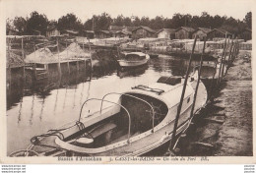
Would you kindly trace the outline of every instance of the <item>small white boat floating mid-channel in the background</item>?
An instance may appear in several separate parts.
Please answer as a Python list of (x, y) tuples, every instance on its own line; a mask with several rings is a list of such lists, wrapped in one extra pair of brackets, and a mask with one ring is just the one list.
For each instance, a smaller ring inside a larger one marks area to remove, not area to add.
[(146, 65), (150, 59), (148, 54), (142, 52), (126, 52), (123, 55), (121, 59), (117, 60), (121, 69)]

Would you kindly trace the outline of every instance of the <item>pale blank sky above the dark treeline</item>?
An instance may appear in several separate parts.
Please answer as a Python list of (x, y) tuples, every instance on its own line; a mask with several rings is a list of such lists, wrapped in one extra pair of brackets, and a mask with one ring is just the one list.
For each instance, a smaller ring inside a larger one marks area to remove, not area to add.
[(45, 14), (48, 20), (74, 13), (84, 23), (93, 15), (108, 13), (112, 18), (138, 16), (171, 18), (173, 14), (200, 16), (202, 12), (243, 20), (251, 11), (253, 0), (0, 0), (6, 19), (30, 17), (32, 11)]

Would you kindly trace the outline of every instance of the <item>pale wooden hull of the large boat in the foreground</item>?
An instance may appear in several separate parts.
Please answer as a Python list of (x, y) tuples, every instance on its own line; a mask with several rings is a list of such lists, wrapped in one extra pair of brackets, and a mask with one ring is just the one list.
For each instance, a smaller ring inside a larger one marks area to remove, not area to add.
[[(182, 134), (190, 125), (192, 119), (190, 114), (192, 108), (192, 100), (194, 97), (194, 93), (191, 92), (191, 89), (195, 88), (195, 86), (196, 81), (193, 84), (191, 84), (191, 87), (189, 87), (188, 90), (190, 91), (186, 91), (185, 93), (180, 117), (178, 120), (178, 128), (176, 131), (176, 135)], [(182, 85), (181, 87), (176, 88), (181, 89)], [(207, 100), (207, 91), (201, 82), (199, 85), (198, 92), (201, 94), (197, 96), (194, 113), (200, 110), (204, 106), (204, 104), (206, 104)], [(135, 90), (130, 91), (129, 93), (148, 93), (148, 91)], [(156, 95), (156, 93), (152, 92), (149, 95)], [(168, 97), (169, 95), (165, 98)], [(167, 101), (166, 104), (168, 103), (170, 102)], [(67, 143), (66, 140), (64, 141), (61, 140), (61, 138), (51, 136), (47, 138), (42, 138), (40, 142), (36, 142), (38, 145), (32, 144), (29, 147), (29, 149), (38, 152), (40, 156), (63, 156), (67, 155), (67, 153), (70, 153), (71, 156), (139, 156), (148, 153), (153, 149), (160, 147), (162, 144), (166, 144), (167, 142), (172, 140), (172, 132), (174, 128), (178, 104), (179, 103), (176, 101), (174, 101), (173, 104), (169, 104), (172, 106), (168, 107), (165, 118), (162, 121), (160, 121), (160, 124), (154, 126), (154, 129), (147, 130), (146, 132), (142, 132), (140, 134), (134, 134), (133, 136), (130, 137), (130, 139), (127, 139), (125, 136), (125, 139), (118, 141), (116, 143), (90, 148), (70, 144)], [(120, 109), (118, 110), (117, 108), (111, 108), (110, 110), (111, 111), (105, 111), (106, 115), (104, 114), (104, 117), (110, 117), (114, 112), (120, 111)], [(88, 127), (90, 126), (89, 124), (95, 124), (96, 121), (99, 121), (99, 119), (103, 120), (101, 114), (98, 115), (97, 119), (93, 117), (86, 117), (85, 119), (82, 119), (81, 122), (83, 122), (84, 125)], [(81, 127), (74, 122), (67, 124), (66, 126), (61, 128), (66, 129), (64, 131), (60, 131), (61, 133), (58, 134), (61, 134), (62, 136), (65, 137), (69, 137), (81, 131)], [(54, 148), (52, 149), (51, 146), (53, 146)]]

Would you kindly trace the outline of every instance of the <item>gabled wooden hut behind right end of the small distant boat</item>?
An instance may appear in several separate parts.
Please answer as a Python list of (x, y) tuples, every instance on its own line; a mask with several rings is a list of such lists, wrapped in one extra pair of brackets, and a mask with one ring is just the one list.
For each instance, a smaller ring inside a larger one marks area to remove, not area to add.
[(138, 27), (136, 29), (132, 30), (132, 38), (139, 39), (139, 38), (145, 38), (145, 37), (155, 37), (156, 30), (151, 29), (149, 27)]

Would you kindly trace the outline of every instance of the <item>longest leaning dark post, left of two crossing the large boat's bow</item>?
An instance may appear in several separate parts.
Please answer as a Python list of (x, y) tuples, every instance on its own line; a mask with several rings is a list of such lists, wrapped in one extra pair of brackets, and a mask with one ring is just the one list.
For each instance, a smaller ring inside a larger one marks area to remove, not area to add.
[(176, 114), (176, 118), (175, 118), (173, 132), (172, 132), (172, 138), (171, 138), (171, 141), (170, 141), (171, 149), (173, 149), (173, 147), (175, 145), (175, 141), (176, 141), (176, 131), (177, 131), (177, 126), (178, 126), (178, 119), (179, 119), (179, 115), (180, 115), (180, 111), (181, 111), (181, 107), (182, 107), (182, 103), (183, 103), (183, 99), (184, 99), (184, 95), (185, 95), (185, 91), (186, 91), (186, 87), (187, 87), (187, 80), (188, 80), (188, 76), (189, 76), (189, 70), (190, 70), (190, 66), (191, 66), (191, 62), (192, 62), (192, 57), (193, 57), (195, 46), (196, 46), (196, 41), (197, 41), (197, 35), (195, 36), (195, 39), (194, 39), (194, 44), (193, 44), (192, 52), (190, 54), (189, 64), (188, 64), (188, 67), (187, 67), (186, 77), (185, 77), (185, 81), (184, 81), (184, 84), (183, 84), (183, 89), (182, 89), (182, 92), (181, 92), (179, 105), (178, 105), (178, 108), (177, 108), (177, 114)]

